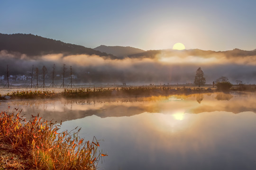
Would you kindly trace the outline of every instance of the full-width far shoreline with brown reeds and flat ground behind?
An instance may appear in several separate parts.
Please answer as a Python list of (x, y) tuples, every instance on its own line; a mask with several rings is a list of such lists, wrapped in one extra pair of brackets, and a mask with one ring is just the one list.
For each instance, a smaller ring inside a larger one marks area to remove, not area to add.
[[(256, 86), (244, 88), (233, 86), (229, 92), (255, 92)], [(116, 97), (149, 97), (168, 96), (175, 94), (214, 93), (223, 92), (210, 86), (115, 86), (115, 87), (88, 87), (88, 88), (0, 88), (0, 100), (13, 99), (58, 99), (58, 98), (116, 98)]]

